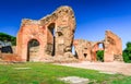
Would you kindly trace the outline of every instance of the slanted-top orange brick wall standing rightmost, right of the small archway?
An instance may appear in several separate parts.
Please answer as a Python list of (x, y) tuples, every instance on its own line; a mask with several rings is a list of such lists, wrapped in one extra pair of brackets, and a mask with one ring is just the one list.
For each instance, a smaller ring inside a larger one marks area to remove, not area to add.
[(110, 31), (105, 36), (105, 61), (122, 61), (122, 41)]

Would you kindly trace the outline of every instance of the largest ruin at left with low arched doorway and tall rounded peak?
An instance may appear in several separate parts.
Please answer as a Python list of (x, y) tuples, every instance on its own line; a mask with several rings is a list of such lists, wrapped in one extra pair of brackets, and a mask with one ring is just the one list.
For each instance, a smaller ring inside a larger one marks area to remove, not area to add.
[(70, 7), (60, 7), (38, 21), (22, 20), (16, 52), (24, 61), (43, 61), (48, 57), (72, 56), (75, 17)]

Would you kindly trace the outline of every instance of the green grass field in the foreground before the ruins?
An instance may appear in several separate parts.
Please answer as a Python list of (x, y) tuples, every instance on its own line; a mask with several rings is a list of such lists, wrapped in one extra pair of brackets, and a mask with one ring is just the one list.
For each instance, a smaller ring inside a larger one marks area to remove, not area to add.
[(104, 74), (94, 70), (39, 62), (0, 64), (0, 84), (66, 84), (58, 80), (63, 76), (86, 77), (90, 84), (131, 84), (131, 76)]

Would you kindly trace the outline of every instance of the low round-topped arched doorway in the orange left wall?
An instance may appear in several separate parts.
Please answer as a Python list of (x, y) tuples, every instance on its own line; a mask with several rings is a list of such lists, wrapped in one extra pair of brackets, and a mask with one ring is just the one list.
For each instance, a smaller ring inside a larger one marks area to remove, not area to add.
[(32, 39), (27, 44), (27, 59), (26, 61), (37, 60), (39, 53), (39, 41), (37, 39)]

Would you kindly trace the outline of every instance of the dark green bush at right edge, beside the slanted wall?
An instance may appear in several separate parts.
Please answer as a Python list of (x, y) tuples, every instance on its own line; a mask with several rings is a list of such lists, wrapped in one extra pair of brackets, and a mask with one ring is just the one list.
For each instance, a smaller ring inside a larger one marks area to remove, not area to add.
[(131, 41), (127, 43), (127, 48), (122, 52), (123, 61), (131, 62)]

